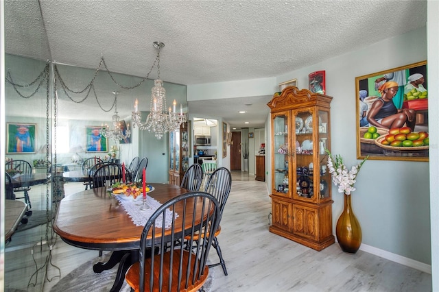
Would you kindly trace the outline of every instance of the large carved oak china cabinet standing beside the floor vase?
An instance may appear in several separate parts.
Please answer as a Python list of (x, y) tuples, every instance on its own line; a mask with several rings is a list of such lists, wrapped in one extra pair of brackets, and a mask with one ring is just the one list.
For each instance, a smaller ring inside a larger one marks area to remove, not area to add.
[(314, 250), (334, 243), (331, 175), (332, 97), (289, 86), (271, 109), (272, 225), (270, 232)]

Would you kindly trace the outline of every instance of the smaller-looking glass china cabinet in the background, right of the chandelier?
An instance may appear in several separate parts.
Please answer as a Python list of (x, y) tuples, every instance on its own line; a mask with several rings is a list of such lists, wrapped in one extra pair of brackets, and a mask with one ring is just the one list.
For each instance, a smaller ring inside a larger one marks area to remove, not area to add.
[(169, 184), (180, 186), (183, 175), (189, 169), (189, 127), (189, 123), (182, 123), (178, 130), (169, 132)]

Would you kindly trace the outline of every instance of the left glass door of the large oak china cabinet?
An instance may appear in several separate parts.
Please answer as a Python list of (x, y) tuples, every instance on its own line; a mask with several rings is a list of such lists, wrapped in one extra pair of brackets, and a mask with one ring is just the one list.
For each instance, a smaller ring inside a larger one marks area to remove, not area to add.
[(288, 145), (288, 112), (276, 114), (272, 123), (273, 135), (273, 188), (278, 195), (289, 197), (289, 163), (291, 151)]

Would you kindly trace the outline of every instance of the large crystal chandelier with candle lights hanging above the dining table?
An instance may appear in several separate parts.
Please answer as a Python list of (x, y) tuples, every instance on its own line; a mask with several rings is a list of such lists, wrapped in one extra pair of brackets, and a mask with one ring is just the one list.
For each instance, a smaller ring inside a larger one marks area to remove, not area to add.
[[(183, 114), (181, 104), (180, 112), (176, 112), (177, 102), (175, 99), (172, 108), (169, 107), (168, 110), (166, 108), (166, 90), (163, 88), (163, 81), (160, 79), (160, 49), (165, 47), (165, 44), (163, 42), (154, 42), (153, 45), (157, 49), (154, 64), (157, 62), (158, 77), (154, 80), (154, 87), (151, 89), (150, 114), (146, 117), (145, 123), (142, 123), (142, 113), (139, 112), (139, 102), (136, 99), (134, 111), (132, 112), (132, 127), (154, 132), (156, 138), (161, 139), (165, 133), (178, 130), (180, 125), (186, 122), (186, 115)], [(154, 64), (152, 67), (154, 67)]]

